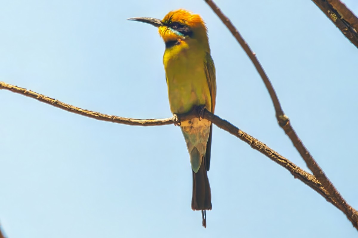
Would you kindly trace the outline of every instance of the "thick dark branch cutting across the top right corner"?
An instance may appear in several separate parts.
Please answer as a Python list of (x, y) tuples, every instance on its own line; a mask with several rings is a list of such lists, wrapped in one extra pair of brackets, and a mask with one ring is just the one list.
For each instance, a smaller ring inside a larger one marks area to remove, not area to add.
[(339, 0), (312, 0), (337, 26), (343, 35), (358, 48), (358, 18)]

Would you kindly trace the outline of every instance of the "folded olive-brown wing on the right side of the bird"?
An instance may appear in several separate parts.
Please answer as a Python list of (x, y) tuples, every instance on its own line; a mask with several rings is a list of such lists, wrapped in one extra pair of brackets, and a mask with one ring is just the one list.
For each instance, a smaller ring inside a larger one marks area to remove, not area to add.
[[(211, 58), (210, 53), (206, 53), (205, 61), (204, 61), (204, 69), (206, 74), (206, 79), (208, 81), (210, 96), (211, 96), (211, 112), (214, 113), (215, 103), (216, 103), (216, 73), (215, 73), (215, 65), (214, 61)], [(210, 157), (211, 157), (211, 140), (213, 135), (213, 124), (210, 126), (210, 134), (208, 143), (206, 144), (206, 152), (205, 152), (205, 165), (206, 170), (209, 171), (210, 168)]]

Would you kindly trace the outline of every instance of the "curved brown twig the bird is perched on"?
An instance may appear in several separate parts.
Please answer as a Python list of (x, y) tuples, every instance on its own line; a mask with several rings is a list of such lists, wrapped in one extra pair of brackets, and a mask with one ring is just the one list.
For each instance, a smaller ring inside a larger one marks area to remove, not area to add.
[[(9, 91), (12, 91), (14, 93), (19, 93), (24, 96), (29, 96), (31, 98), (34, 98), (38, 101), (41, 101), (43, 103), (47, 103), (52, 106), (56, 106), (58, 108), (61, 108), (63, 110), (69, 111), (71, 113), (81, 114), (84, 116), (88, 116), (90, 118), (96, 119), (96, 120), (102, 120), (107, 122), (114, 122), (114, 123), (120, 123), (120, 124), (127, 124), (127, 125), (142, 125), (142, 126), (150, 126), (150, 125), (168, 125), (168, 124), (179, 124), (180, 121), (189, 120), (192, 118), (196, 118), (199, 116), (200, 112), (196, 110), (195, 108), (189, 113), (186, 114), (180, 114), (173, 116), (172, 118), (166, 118), (166, 119), (150, 119), (150, 120), (142, 120), (142, 119), (133, 119), (133, 118), (123, 118), (120, 116), (112, 116), (112, 115), (106, 115), (98, 112), (93, 112), (90, 110), (83, 110), (81, 108), (78, 108), (73, 105), (69, 105), (66, 103), (58, 104), (53, 103), (53, 101), (57, 101), (55, 99), (49, 98), (48, 96), (35, 93), (34, 91), (26, 90), (24, 88), (20, 88), (18, 86), (14, 86), (11, 84), (7, 84), (4, 82), (0, 82), (0, 89), (6, 89)], [(57, 101), (59, 102), (59, 101)], [(61, 105), (61, 106), (59, 106)], [(233, 134), (237, 138), (241, 139), (243, 142), (246, 142), (248, 145), (250, 145), (253, 149), (261, 152), (266, 157), (271, 159), (272, 161), (276, 162), (277, 164), (281, 165), (285, 169), (289, 170), (289, 172), (297, 179), (301, 180), (303, 183), (307, 184), (310, 188), (318, 192), (322, 195), (328, 202), (332, 203), (337, 207), (337, 203), (332, 198), (332, 196), (326, 191), (326, 189), (321, 185), (319, 180), (315, 178), (314, 175), (306, 172), (305, 170), (301, 169), (294, 163), (292, 163), (290, 160), (286, 159), (279, 153), (277, 153), (275, 150), (268, 147), (266, 144), (260, 142), (259, 140), (253, 138), (251, 135), (243, 132), (242, 130), (238, 129), (231, 123), (227, 122), (226, 120), (223, 120), (219, 118), (218, 116), (212, 114), (211, 112), (204, 110), (203, 115), (204, 118), (210, 120), (215, 125), (217, 125), (219, 128), (226, 130), (227, 132)], [(108, 118), (114, 118), (115, 120), (110, 120)], [(136, 123), (133, 123), (136, 122)]]

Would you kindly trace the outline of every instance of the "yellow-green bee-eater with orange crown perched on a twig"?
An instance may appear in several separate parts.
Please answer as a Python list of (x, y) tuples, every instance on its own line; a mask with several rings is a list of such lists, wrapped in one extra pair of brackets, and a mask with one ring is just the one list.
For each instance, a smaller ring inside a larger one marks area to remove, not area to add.
[[(197, 106), (214, 113), (215, 66), (203, 19), (190, 11), (179, 9), (169, 12), (163, 20), (128, 20), (157, 27), (164, 40), (163, 63), (171, 112), (184, 114)], [(187, 143), (193, 172), (192, 209), (202, 211), (203, 226), (206, 227), (205, 210), (212, 209), (207, 171), (210, 168), (213, 126), (209, 120), (194, 118), (181, 122), (180, 128)]]

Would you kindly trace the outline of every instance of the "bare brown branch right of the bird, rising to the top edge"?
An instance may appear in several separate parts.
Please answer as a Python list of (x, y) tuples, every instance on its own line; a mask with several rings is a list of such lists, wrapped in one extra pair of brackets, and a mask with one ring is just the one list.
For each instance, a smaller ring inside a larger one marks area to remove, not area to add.
[(276, 111), (277, 122), (280, 127), (284, 129), (287, 136), (290, 138), (291, 142), (294, 144), (297, 151), (300, 153), (301, 157), (305, 160), (307, 167), (313, 172), (315, 177), (321, 182), (323, 187), (328, 191), (329, 194), (333, 197), (333, 200), (337, 201), (337, 208), (340, 209), (347, 218), (352, 222), (353, 226), (358, 230), (358, 212), (352, 208), (340, 195), (338, 190), (334, 187), (332, 182), (326, 177), (323, 170), (320, 168), (318, 163), (314, 160), (312, 155), (309, 153), (308, 149), (304, 146), (302, 141), (299, 139), (295, 130), (290, 124), (288, 116), (286, 116), (281, 108), (279, 99), (277, 98), (276, 92), (267, 77), (265, 71), (263, 70), (260, 62), (256, 58), (256, 54), (250, 49), (246, 41), (242, 38), (238, 30), (231, 23), (231, 21), (225, 16), (218, 6), (212, 0), (204, 0), (216, 13), (216, 15), (221, 19), (221, 21), (227, 26), (231, 31), (232, 35), (236, 38), (241, 47), (245, 50), (248, 57), (251, 59), (252, 63), (255, 65), (256, 70), (260, 74), (263, 82), (266, 85), (267, 90), (271, 96), (272, 102)]

